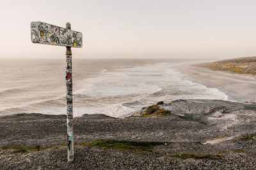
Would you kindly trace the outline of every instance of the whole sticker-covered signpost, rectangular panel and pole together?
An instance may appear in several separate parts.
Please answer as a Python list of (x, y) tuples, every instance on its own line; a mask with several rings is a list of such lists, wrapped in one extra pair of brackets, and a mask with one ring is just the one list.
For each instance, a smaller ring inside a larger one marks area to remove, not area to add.
[(31, 41), (45, 45), (66, 46), (66, 85), (67, 85), (67, 146), (68, 162), (74, 160), (73, 136), (73, 99), (72, 99), (72, 52), (71, 47), (83, 46), (81, 32), (71, 30), (70, 23), (66, 28), (58, 27), (44, 22), (31, 22)]

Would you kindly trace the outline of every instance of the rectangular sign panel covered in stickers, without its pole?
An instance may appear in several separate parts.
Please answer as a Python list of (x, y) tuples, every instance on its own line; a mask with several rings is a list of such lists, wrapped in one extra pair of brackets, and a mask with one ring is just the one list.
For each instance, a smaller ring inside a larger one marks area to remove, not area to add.
[(81, 48), (83, 35), (81, 32), (72, 31), (44, 22), (31, 22), (31, 41), (46, 45), (71, 46)]

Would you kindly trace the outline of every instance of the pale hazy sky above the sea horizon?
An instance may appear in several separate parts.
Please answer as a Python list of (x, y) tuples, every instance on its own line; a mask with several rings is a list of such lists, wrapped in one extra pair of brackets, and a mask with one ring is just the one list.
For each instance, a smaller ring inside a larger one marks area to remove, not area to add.
[(3, 58), (65, 58), (65, 47), (31, 42), (30, 22), (83, 33), (74, 58), (188, 58), (256, 55), (256, 1), (0, 0)]

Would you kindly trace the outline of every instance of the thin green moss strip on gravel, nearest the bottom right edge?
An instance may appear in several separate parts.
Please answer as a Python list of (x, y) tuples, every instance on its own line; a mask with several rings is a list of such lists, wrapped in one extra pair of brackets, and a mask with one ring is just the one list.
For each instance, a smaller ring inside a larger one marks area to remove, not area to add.
[(194, 153), (184, 153), (184, 154), (174, 154), (170, 155), (170, 157), (180, 158), (180, 159), (220, 159), (223, 154), (217, 155), (196, 155)]

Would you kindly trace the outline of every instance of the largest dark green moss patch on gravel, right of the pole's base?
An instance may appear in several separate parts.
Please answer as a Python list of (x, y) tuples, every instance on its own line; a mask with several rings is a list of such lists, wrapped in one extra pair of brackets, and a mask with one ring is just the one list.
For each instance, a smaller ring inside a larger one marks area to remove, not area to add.
[(152, 148), (157, 145), (164, 145), (161, 142), (130, 142), (130, 141), (113, 141), (102, 140), (89, 143), (91, 146), (99, 146), (101, 148), (115, 148), (117, 150), (129, 150), (135, 152), (152, 152)]

